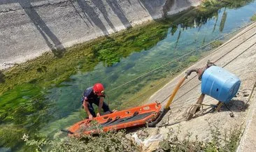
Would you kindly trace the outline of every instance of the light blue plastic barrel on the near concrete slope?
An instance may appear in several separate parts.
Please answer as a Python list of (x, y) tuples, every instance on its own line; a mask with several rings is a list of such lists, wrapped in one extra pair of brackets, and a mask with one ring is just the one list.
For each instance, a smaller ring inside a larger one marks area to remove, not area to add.
[(236, 75), (218, 66), (211, 66), (201, 77), (201, 92), (221, 102), (229, 102), (239, 91), (240, 84)]

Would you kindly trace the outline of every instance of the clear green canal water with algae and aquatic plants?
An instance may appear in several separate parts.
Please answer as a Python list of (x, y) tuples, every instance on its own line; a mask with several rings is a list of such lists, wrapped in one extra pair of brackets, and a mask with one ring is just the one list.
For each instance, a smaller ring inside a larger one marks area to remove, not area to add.
[[(211, 47), (184, 54), (248, 24), (255, 8), (255, 1), (245, 1), (242, 6), (210, 13), (190, 10), (103, 38), (88, 47), (89, 54), (85, 53), (87, 45), (78, 45), (76, 54), (52, 58), (45, 66), (24, 66), (16, 75), (6, 74), (0, 79), (0, 151), (18, 151), (21, 147), (22, 151), (31, 151), (33, 147), (23, 146), (21, 141), (24, 133), (35, 139), (59, 137), (60, 129), (85, 118), (80, 96), (95, 82), (106, 87), (112, 109), (140, 104), (156, 91), (157, 84), (200, 59)], [(154, 71), (135, 79), (150, 70)]]

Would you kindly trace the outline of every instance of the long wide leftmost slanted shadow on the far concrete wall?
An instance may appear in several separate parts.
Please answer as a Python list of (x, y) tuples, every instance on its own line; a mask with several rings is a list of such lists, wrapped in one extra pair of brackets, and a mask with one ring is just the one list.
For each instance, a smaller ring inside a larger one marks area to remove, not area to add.
[[(65, 51), (64, 46), (57, 38), (57, 36), (55, 36), (55, 34), (52, 33), (49, 27), (45, 24), (40, 15), (38, 15), (34, 7), (31, 5), (31, 1), (18, 0), (17, 2), (20, 3), (20, 6), (22, 6), (24, 11), (29, 16), (30, 20), (36, 26), (36, 29), (38, 29), (38, 31), (41, 33), (41, 35), (45, 39), (46, 44), (48, 45), (48, 47), (50, 47), (50, 50), (52, 50), (52, 53), (55, 54), (55, 56), (57, 57), (62, 57), (62, 54)], [(51, 42), (53, 43), (53, 45)]]

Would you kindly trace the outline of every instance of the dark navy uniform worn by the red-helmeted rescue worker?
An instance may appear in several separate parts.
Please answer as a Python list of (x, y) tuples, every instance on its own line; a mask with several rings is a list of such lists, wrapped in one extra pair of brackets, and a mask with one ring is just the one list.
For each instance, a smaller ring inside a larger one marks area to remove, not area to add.
[[(102, 97), (105, 98), (105, 96), (102, 96)], [(92, 107), (92, 103), (94, 103), (95, 105), (97, 105), (99, 107), (99, 96), (94, 94), (92, 86), (87, 88), (84, 91), (83, 97), (81, 99), (82, 104), (83, 104), (84, 99), (87, 102), (89, 102), (88, 109), (89, 109), (90, 113), (92, 114), (92, 116), (96, 117), (96, 114), (94, 112), (94, 108)], [(111, 110), (109, 109), (108, 105), (105, 102), (103, 102), (102, 109), (104, 110), (104, 112), (111, 112)]]

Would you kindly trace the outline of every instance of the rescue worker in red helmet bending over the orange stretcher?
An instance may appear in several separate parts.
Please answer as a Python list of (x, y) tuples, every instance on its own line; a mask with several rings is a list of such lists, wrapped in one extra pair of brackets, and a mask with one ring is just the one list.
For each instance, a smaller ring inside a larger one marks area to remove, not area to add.
[[(83, 109), (85, 109), (85, 112), (88, 114), (90, 120), (92, 120), (93, 117), (101, 116), (101, 108), (104, 110), (104, 112), (112, 113), (106, 102), (104, 102), (104, 98), (104, 86), (101, 83), (94, 84), (94, 86), (85, 89), (82, 97)], [(94, 108), (92, 107), (93, 103), (98, 106), (97, 114), (95, 114)]]

